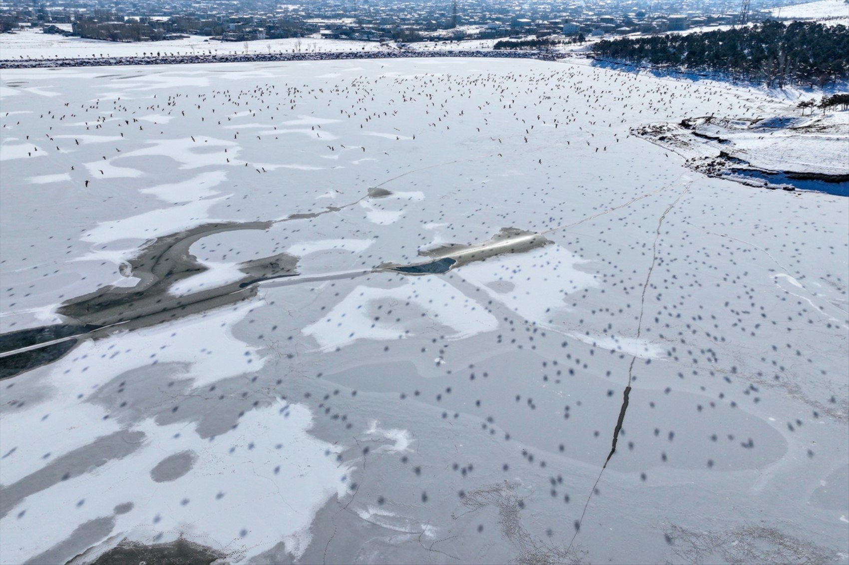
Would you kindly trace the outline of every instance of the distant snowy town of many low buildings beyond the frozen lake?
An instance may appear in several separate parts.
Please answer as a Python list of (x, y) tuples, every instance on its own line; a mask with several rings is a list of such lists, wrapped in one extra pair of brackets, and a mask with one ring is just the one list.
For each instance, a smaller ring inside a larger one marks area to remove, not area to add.
[[(787, 3), (790, 3), (788, 0)], [(772, 8), (781, 3), (774, 3)], [(208, 36), (211, 42), (323, 37), (363, 42), (656, 34), (776, 19), (749, 11), (747, 0), (637, 0), (584, 3), (391, 2), (319, 0), (314, 3), (57, 0), (0, 2), (0, 31), (45, 33), (112, 42), (155, 42)], [(780, 14), (779, 18), (780, 20)]]

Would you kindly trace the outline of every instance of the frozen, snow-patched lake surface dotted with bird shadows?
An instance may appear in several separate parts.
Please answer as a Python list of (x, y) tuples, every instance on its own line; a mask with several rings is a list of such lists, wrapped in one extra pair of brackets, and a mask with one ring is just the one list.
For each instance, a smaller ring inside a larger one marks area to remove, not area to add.
[[(849, 562), (846, 199), (630, 134), (794, 101), (530, 60), (0, 81), (3, 333), (214, 222), (163, 300), (300, 273), (3, 380), (0, 562)], [(544, 244), (387, 267), (503, 228)]]

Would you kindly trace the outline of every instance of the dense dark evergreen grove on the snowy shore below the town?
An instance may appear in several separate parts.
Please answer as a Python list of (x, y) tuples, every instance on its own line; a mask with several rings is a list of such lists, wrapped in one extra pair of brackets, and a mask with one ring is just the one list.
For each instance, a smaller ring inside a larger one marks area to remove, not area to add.
[(725, 31), (602, 40), (596, 56), (677, 70), (720, 72), (770, 87), (825, 86), (849, 77), (849, 29), (767, 20)]

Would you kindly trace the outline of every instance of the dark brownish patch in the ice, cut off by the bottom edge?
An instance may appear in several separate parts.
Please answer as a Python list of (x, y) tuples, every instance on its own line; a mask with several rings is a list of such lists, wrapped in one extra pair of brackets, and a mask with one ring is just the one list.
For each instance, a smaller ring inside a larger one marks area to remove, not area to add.
[[(109, 551), (105, 551), (91, 565), (209, 565), (227, 557), (221, 551), (178, 538), (164, 544), (144, 545), (123, 540)], [(72, 562), (76, 562), (72, 561)], [(68, 565), (70, 565), (69, 562)], [(82, 561), (81, 561), (82, 562)]]

